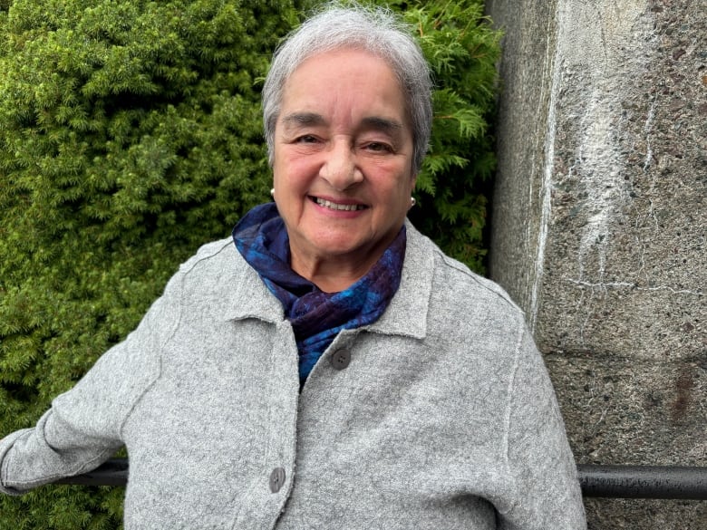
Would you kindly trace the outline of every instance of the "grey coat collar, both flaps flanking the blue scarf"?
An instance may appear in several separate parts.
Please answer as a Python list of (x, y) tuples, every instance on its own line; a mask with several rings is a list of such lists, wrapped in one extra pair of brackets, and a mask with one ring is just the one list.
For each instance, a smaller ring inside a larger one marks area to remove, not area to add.
[[(427, 332), (427, 311), (431, 296), (433, 251), (431, 242), (418, 232), (409, 221), (405, 261), (398, 292), (376, 322), (364, 326), (370, 332), (404, 335), (417, 339)], [(255, 269), (231, 243), (228, 253), (239, 263), (233, 267), (231, 278), (235, 292), (227, 302), (225, 316), (228, 320), (257, 318), (269, 323), (285, 320), (282, 305), (271, 294)]]

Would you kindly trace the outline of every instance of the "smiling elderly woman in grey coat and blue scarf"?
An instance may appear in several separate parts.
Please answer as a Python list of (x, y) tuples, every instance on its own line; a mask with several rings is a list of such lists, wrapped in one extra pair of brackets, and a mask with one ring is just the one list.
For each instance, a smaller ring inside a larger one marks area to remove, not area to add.
[(329, 7), (277, 51), (263, 107), (275, 202), (0, 443), (0, 489), (124, 445), (129, 530), (584, 527), (523, 315), (406, 221), (431, 129), (414, 40)]

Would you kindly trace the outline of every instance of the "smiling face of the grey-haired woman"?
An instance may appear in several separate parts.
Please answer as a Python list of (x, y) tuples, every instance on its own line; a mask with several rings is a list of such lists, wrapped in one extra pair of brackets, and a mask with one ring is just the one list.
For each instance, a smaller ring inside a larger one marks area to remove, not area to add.
[(382, 59), (321, 53), (286, 82), (275, 129), (275, 199), (292, 266), (373, 265), (411, 206), (412, 127)]

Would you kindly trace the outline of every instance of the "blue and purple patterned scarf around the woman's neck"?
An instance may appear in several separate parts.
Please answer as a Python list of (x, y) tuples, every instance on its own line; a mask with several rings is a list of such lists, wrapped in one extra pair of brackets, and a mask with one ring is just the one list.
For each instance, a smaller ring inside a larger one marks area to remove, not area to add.
[(373, 323), (398, 290), (405, 256), (405, 226), (371, 270), (339, 293), (324, 293), (290, 268), (289, 238), (275, 203), (250, 210), (234, 227), (238, 252), (282, 303), (292, 323), (304, 384), (337, 333)]

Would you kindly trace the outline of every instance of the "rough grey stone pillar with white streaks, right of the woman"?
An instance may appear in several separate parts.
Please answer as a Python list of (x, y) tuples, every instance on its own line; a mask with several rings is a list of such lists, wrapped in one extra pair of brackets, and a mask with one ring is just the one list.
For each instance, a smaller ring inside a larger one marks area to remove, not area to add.
[[(578, 463), (707, 466), (707, 2), (487, 0), (503, 28), (491, 277)], [(704, 502), (586, 499), (590, 529)]]

